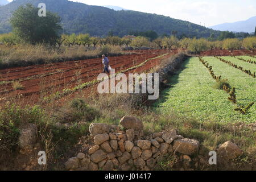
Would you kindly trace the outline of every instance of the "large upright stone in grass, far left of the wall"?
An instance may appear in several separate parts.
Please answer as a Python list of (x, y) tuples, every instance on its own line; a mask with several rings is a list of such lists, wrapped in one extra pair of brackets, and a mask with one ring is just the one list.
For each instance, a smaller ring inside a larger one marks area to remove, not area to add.
[(32, 149), (36, 143), (37, 129), (32, 123), (28, 123), (20, 129), (19, 147), (22, 149)]

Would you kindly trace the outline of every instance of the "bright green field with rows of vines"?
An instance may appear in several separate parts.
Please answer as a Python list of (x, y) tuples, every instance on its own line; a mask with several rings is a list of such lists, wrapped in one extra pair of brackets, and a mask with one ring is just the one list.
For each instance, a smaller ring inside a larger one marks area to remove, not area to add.
[[(251, 72), (256, 71), (254, 64), (229, 56), (222, 58), (250, 69)], [(243, 58), (247, 59), (247, 57)], [(230, 86), (236, 88), (238, 105), (247, 105), (255, 101), (256, 78), (214, 57), (203, 57), (203, 59), (212, 65), (215, 75), (227, 78)], [(247, 123), (256, 121), (256, 104), (247, 114), (234, 111), (236, 105), (228, 100), (229, 95), (224, 90), (213, 88), (216, 81), (198, 57), (186, 60), (177, 75), (169, 77), (169, 83), (171, 88), (165, 89), (159, 101), (155, 103), (156, 110), (160, 113), (174, 110), (200, 121)]]

